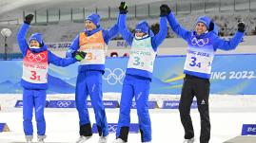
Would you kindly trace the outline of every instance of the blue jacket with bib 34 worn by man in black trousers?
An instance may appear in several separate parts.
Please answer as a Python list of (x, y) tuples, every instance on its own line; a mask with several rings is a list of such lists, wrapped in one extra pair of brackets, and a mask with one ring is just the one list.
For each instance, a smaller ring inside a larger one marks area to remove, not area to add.
[(203, 79), (210, 79), (211, 64), (217, 49), (232, 50), (241, 43), (244, 32), (237, 31), (229, 41), (223, 40), (216, 34), (216, 29), (197, 35), (196, 31), (189, 31), (181, 27), (170, 12), (167, 21), (172, 30), (187, 41), (187, 59), (184, 73)]

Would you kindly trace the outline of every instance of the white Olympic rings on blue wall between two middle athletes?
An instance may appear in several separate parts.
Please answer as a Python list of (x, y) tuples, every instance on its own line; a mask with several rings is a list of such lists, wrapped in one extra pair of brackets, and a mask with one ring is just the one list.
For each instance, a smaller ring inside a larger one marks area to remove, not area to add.
[(125, 77), (125, 71), (121, 68), (115, 68), (111, 71), (109, 68), (105, 69), (105, 74), (103, 80), (107, 80), (108, 84), (115, 85), (116, 83), (123, 84), (123, 79)]

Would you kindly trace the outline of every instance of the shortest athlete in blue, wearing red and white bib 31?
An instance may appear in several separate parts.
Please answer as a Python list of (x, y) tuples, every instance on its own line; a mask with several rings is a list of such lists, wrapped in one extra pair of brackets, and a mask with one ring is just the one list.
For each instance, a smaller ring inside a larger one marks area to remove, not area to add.
[(58, 66), (68, 66), (83, 59), (83, 54), (75, 53), (75, 58), (62, 59), (48, 50), (44, 45), (42, 35), (34, 33), (30, 36), (30, 45), (27, 44), (26, 34), (30, 27), (33, 15), (27, 15), (24, 25), (20, 28), (17, 40), (20, 46), (23, 60), (23, 127), (27, 142), (30, 143), (33, 136), (32, 112), (35, 108), (35, 120), (37, 124), (38, 142), (43, 143), (46, 137), (46, 121), (44, 108), (46, 105), (46, 90), (48, 89), (49, 63)]

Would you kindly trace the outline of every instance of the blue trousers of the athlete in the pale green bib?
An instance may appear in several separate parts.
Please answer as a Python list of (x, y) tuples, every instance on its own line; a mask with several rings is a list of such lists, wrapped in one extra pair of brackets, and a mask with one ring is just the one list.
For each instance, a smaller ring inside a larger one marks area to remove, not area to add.
[[(148, 113), (149, 88), (149, 79), (126, 75), (122, 89), (116, 137), (120, 136), (122, 127), (129, 127), (130, 107), (132, 98), (135, 97), (139, 127), (142, 132), (142, 142), (151, 141), (151, 121)], [(127, 138), (122, 139), (127, 140)]]

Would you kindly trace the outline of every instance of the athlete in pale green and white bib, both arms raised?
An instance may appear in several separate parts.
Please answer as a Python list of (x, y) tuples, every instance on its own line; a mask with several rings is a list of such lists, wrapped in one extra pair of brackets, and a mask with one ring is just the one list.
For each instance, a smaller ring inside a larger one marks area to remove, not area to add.
[(151, 141), (151, 122), (148, 114), (149, 88), (157, 47), (167, 36), (167, 11), (161, 9), (160, 31), (154, 35), (146, 21), (142, 21), (136, 26), (135, 34), (131, 33), (126, 27), (128, 13), (126, 3), (122, 2), (119, 9), (119, 31), (128, 45), (131, 45), (131, 49), (123, 84), (116, 139), (113, 143), (128, 141), (130, 107), (134, 96), (142, 136), (141, 141), (149, 143)]

